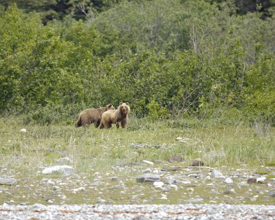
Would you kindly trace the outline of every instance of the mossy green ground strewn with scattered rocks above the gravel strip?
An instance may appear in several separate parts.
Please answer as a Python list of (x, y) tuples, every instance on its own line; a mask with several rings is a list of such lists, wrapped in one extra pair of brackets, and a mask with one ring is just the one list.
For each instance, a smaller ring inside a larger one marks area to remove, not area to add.
[(199, 159), (192, 166), (179, 166), (181, 157), (169, 160), (115, 164), (110, 173), (91, 168), (89, 176), (74, 173), (68, 157), (30, 176), (2, 167), (0, 204), (275, 204), (272, 167), (217, 170)]

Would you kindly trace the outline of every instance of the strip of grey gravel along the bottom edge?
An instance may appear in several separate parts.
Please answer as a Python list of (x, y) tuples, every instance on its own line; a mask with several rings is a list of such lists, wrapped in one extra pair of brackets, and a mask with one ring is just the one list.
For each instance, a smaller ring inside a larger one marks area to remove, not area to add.
[(275, 219), (275, 206), (63, 205), (0, 206), (0, 219)]

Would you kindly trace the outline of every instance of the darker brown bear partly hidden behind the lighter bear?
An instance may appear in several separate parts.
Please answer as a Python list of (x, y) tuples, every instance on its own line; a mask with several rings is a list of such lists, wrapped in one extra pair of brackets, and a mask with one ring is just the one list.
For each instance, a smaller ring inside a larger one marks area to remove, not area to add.
[(97, 128), (100, 124), (102, 113), (111, 109), (115, 109), (113, 104), (107, 104), (106, 107), (99, 109), (85, 109), (81, 111), (78, 116), (78, 121), (76, 122), (76, 127), (87, 126), (94, 123)]

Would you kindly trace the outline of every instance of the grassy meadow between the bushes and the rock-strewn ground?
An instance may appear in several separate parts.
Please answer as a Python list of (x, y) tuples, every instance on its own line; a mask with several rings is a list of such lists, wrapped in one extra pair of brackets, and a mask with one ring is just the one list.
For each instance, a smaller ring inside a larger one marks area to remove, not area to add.
[[(182, 137), (184, 141), (179, 142), (177, 137)], [(193, 159), (200, 157), (205, 166), (219, 170), (224, 167), (245, 167), (264, 171), (263, 167), (275, 166), (274, 137), (275, 130), (272, 127), (263, 124), (248, 126), (243, 122), (223, 125), (214, 121), (150, 122), (131, 118), (127, 129), (113, 126), (100, 130), (94, 126), (76, 129), (74, 124), (25, 125), (20, 118), (1, 118), (0, 175), (12, 176), (25, 185), (32, 185), (32, 179), (38, 182), (43, 179), (42, 168), (58, 164), (56, 160), (65, 156), (72, 160), (69, 165), (74, 167), (74, 175), (90, 181), (95, 181), (100, 173), (101, 176), (133, 177), (134, 182), (140, 170), (132, 168), (123, 173), (113, 167), (118, 164), (138, 164), (144, 159), (154, 162), (154, 166), (168, 167), (189, 166)], [(163, 147), (137, 149), (131, 143), (162, 144)], [(168, 164), (167, 160), (175, 155), (183, 157), (183, 162)], [(55, 178), (54, 175), (50, 177)], [(133, 187), (131, 182), (126, 182), (126, 185)], [(14, 194), (16, 198), (17, 193)], [(27, 194), (24, 197), (28, 197)], [(70, 203), (85, 202), (78, 199), (70, 200)], [(0, 203), (3, 201), (0, 199)], [(20, 201), (22, 199), (18, 198), (18, 203)], [(170, 199), (169, 203), (178, 201)]]

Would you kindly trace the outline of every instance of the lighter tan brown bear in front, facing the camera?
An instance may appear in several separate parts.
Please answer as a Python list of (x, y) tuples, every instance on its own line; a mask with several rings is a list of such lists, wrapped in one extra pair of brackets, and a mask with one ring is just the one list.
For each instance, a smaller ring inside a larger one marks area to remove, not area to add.
[(102, 114), (100, 129), (109, 129), (111, 124), (116, 124), (116, 127), (119, 128), (120, 124), (122, 128), (126, 127), (128, 123), (128, 115), (130, 112), (130, 107), (128, 102), (120, 102), (120, 106), (117, 110), (105, 111)]

